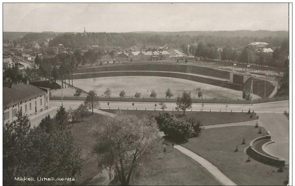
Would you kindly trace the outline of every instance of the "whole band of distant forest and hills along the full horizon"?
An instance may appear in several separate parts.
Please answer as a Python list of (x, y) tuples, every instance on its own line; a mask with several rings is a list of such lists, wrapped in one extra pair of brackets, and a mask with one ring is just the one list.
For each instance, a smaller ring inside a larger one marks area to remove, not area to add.
[[(25, 34), (23, 37), (17, 35)], [(237, 30), (237, 31), (182, 31), (182, 32), (128, 32), (128, 33), (106, 33), (87, 32), (82, 33), (27, 33), (26, 32), (3, 32), (3, 41), (14, 38), (14, 43), (30, 43), (36, 41), (41, 43), (45, 39), (49, 41), (49, 47), (56, 47), (63, 44), (66, 48), (79, 49), (99, 45), (102, 47), (130, 47), (137, 44), (176, 44), (177, 48), (186, 50), (191, 43), (204, 42), (213, 44), (216, 47), (230, 45), (234, 48), (241, 48), (254, 41), (269, 43), (269, 47), (281, 46), (284, 40), (288, 39), (288, 31), (267, 31), (267, 30)]]

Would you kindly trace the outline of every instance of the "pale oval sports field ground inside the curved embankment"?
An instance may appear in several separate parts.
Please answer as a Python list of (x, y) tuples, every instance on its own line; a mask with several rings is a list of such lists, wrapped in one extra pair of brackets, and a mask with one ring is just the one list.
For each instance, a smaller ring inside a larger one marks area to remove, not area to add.
[(140, 92), (141, 97), (150, 97), (152, 89), (157, 93), (157, 97), (165, 97), (165, 91), (170, 88), (174, 95), (173, 97), (177, 97), (178, 95), (181, 95), (183, 91), (186, 91), (191, 92), (193, 98), (197, 98), (198, 91), (196, 91), (196, 88), (201, 87), (203, 98), (242, 99), (241, 91), (171, 77), (101, 77), (95, 78), (95, 81), (93, 78), (74, 79), (73, 84), (75, 87), (81, 88), (87, 92), (93, 90), (95, 84), (95, 91), (99, 96), (103, 96), (104, 91), (109, 88), (111, 89), (111, 97), (119, 97), (119, 93), (122, 90), (125, 91), (126, 97), (134, 97), (136, 92)]

